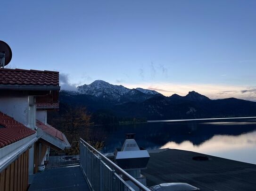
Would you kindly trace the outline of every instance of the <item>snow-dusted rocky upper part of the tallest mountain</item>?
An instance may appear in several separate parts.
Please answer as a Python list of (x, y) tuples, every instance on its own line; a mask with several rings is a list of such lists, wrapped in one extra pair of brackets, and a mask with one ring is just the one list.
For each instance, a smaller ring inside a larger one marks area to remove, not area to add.
[(154, 95), (162, 95), (153, 90), (142, 88), (129, 89), (123, 85), (113, 85), (103, 80), (96, 80), (91, 84), (78, 86), (77, 90), (79, 94), (92, 95), (97, 98), (109, 99), (112, 101), (132, 101), (132, 98), (138, 100), (139, 97), (141, 100), (144, 100)]

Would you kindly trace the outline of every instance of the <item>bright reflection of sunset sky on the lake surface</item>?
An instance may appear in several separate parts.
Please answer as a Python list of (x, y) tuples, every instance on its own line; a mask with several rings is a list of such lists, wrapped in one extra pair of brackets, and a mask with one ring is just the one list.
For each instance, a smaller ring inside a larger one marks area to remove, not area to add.
[(256, 164), (256, 131), (239, 136), (215, 135), (200, 145), (193, 145), (190, 141), (180, 144), (170, 141), (161, 148), (194, 151)]

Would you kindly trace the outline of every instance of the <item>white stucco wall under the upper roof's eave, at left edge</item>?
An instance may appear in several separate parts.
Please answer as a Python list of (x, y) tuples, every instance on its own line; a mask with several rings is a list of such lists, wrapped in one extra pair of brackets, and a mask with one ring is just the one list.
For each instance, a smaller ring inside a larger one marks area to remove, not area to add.
[(29, 125), (27, 95), (0, 96), (0, 111), (26, 126)]

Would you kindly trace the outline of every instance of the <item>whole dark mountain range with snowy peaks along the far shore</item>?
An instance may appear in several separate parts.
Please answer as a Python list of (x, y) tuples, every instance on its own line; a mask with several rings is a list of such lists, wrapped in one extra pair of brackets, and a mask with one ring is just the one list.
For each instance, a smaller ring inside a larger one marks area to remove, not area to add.
[(141, 117), (147, 120), (256, 116), (256, 102), (242, 99), (209, 99), (191, 91), (166, 97), (153, 90), (129, 89), (102, 80), (60, 91), (60, 103), (85, 106), (93, 114)]

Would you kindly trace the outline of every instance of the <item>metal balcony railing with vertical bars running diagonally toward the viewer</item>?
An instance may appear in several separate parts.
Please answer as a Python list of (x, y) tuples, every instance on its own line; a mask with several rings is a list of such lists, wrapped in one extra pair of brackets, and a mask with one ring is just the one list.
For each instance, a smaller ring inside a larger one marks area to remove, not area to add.
[[(92, 191), (150, 191), (80, 138), (80, 167)], [(125, 181), (132, 183), (132, 187)]]

